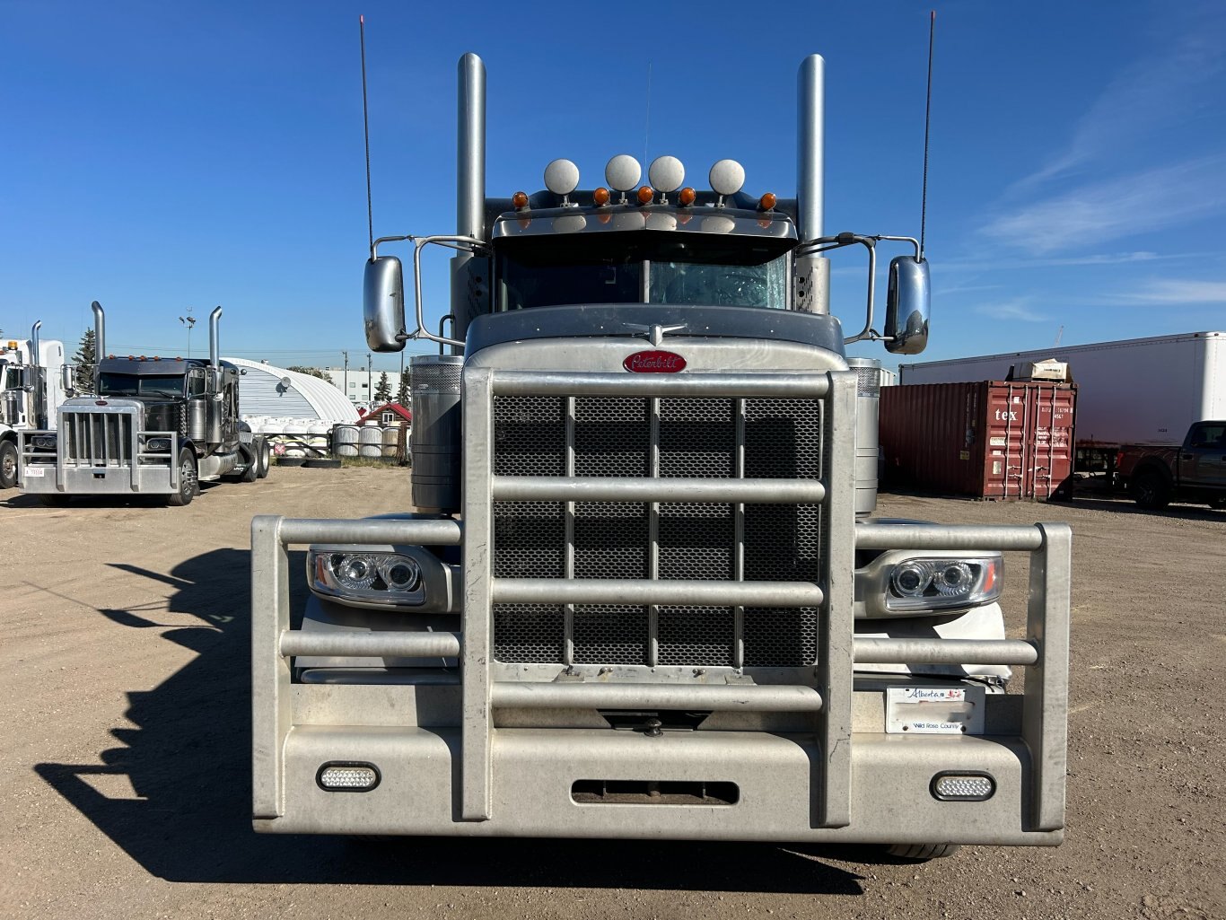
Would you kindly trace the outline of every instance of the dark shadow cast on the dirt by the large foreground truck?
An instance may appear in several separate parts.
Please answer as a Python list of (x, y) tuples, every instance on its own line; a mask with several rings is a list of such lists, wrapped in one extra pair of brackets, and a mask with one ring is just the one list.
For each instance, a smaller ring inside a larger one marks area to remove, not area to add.
[[(291, 572), (302, 570), (302, 553)], [(862, 894), (862, 876), (825, 860), (895, 862), (869, 846), (262, 835), (250, 822), (249, 554), (218, 550), (169, 575), (169, 608), (200, 626), (166, 628), (152, 611), (102, 610), (192, 660), (115, 711), (116, 747), (99, 763), (40, 763), (38, 774), (132, 860), (172, 882), (640, 888)], [(300, 581), (300, 579), (298, 579)], [(295, 599), (302, 608), (302, 597)], [(161, 607), (157, 613), (164, 613)], [(163, 629), (159, 634), (156, 629)], [(126, 780), (126, 781), (125, 781)], [(130, 784), (130, 786), (129, 786)], [(126, 797), (115, 790), (126, 791)]]

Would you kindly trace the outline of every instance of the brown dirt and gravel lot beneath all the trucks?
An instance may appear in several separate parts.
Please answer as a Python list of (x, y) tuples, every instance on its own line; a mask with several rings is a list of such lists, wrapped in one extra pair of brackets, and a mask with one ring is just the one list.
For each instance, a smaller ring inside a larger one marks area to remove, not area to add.
[(0, 916), (1226, 916), (1226, 513), (883, 496), (893, 515), (1075, 532), (1067, 843), (913, 866), (868, 848), (257, 837), (250, 518), (395, 509), (407, 473), (276, 469), (180, 509), (4, 496)]

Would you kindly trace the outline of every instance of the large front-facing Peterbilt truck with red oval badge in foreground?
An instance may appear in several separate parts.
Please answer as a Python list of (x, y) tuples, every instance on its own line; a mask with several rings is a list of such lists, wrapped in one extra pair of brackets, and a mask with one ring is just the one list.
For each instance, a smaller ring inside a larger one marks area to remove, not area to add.
[[(823, 82), (805, 59), (796, 199), (727, 159), (710, 189), (673, 157), (640, 185), (626, 155), (597, 188), (553, 161), (490, 197), (461, 59), (459, 228), (365, 265), (369, 346), (440, 348), (411, 361), (412, 510), (253, 521), (256, 830), (1060, 841), (1069, 530), (874, 516), (880, 377), (846, 345), (920, 351), (928, 267), (913, 239), (824, 233)], [(450, 329), (424, 319), (434, 245), (459, 250)], [(825, 255), (847, 247), (851, 336)], [(1030, 558), (1021, 638), (1004, 551)]]

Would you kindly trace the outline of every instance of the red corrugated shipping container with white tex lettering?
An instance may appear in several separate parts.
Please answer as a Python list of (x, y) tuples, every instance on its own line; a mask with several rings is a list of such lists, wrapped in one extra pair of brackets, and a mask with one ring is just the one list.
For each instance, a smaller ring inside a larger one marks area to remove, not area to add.
[(1051, 498), (1073, 473), (1076, 384), (983, 380), (881, 388), (885, 487)]

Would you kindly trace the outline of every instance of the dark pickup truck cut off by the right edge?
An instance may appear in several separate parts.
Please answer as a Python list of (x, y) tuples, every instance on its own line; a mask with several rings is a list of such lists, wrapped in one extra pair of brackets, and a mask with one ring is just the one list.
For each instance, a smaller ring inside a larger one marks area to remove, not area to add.
[(1181, 447), (1125, 447), (1116, 471), (1141, 508), (1171, 502), (1226, 508), (1226, 421), (1193, 423)]

